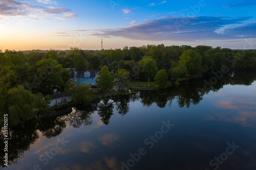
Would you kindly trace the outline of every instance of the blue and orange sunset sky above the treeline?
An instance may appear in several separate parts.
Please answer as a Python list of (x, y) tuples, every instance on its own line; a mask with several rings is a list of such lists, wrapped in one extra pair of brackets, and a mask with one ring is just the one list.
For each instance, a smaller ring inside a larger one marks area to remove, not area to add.
[(0, 47), (100, 50), (103, 39), (104, 49), (255, 49), (255, 7), (256, 0), (0, 0)]

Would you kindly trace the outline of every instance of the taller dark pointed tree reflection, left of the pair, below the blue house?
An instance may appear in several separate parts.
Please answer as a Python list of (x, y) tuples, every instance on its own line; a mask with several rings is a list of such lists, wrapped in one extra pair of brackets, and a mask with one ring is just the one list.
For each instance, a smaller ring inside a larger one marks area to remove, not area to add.
[(105, 125), (109, 125), (110, 118), (113, 115), (114, 102), (109, 102), (109, 99), (103, 99), (98, 104), (98, 114), (101, 117), (101, 121)]

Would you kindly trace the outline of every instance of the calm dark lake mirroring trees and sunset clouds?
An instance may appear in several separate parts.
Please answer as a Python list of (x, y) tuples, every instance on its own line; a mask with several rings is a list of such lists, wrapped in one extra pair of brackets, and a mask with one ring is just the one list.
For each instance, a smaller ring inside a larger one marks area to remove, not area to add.
[(196, 80), (56, 111), (10, 128), (4, 169), (256, 169), (255, 80), (230, 74), (209, 91)]

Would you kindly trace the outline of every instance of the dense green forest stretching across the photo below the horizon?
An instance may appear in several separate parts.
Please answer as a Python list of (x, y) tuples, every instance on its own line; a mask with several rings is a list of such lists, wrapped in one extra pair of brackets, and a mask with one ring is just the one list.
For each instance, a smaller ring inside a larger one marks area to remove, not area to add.
[(158, 78), (165, 77), (174, 84), (186, 75), (207, 77), (223, 70), (223, 67), (256, 69), (256, 51), (163, 44), (101, 51), (79, 48), (45, 53), (0, 51), (1, 113), (11, 112), (15, 116), (26, 113), (24, 118), (33, 117), (33, 108), (44, 105), (42, 96), (52, 94), (53, 87), (64, 89), (74, 70), (100, 70), (103, 66), (108, 66), (114, 73), (125, 69), (133, 80), (147, 81), (149, 78), (150, 81), (161, 82), (161, 79), (156, 79), (158, 75)]

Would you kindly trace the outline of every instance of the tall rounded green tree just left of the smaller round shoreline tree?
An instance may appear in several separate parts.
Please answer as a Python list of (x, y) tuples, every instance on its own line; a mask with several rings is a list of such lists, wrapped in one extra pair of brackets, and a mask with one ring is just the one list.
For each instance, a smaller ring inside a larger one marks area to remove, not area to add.
[(143, 80), (147, 81), (148, 78), (150, 80), (154, 80), (155, 75), (157, 74), (157, 65), (156, 60), (154, 60), (150, 56), (144, 56), (143, 59), (140, 61), (142, 65), (141, 72), (143, 73)]

